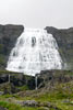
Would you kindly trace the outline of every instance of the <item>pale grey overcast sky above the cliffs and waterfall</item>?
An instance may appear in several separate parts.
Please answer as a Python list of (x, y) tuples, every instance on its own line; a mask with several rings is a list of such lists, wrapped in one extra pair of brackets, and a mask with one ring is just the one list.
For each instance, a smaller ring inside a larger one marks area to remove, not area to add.
[(0, 0), (0, 24), (73, 26), (73, 0)]

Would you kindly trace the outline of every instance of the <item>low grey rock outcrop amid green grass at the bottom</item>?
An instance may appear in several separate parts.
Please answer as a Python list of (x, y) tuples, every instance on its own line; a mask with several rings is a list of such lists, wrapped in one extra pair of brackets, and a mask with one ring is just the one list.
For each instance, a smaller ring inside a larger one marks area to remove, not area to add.
[(51, 102), (41, 102), (41, 101), (36, 101), (36, 100), (16, 100), (15, 98), (9, 98), (5, 101), (20, 105), (22, 107), (44, 107), (45, 109), (53, 109), (53, 110), (60, 110), (58, 107), (56, 107)]

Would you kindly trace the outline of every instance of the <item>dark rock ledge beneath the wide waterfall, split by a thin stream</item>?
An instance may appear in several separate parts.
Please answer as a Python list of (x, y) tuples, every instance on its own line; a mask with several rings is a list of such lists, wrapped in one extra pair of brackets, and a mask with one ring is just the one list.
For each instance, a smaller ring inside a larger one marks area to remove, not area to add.
[[(35, 89), (35, 77), (25, 76), (22, 74), (11, 74), (0, 75), (0, 95), (2, 94), (16, 94), (19, 91), (25, 90), (23, 87), (27, 87), (28, 90)], [(8, 80), (7, 80), (8, 78)], [(51, 90), (54, 88), (56, 84), (65, 84), (73, 80), (73, 72), (71, 70), (46, 70), (41, 72), (37, 76), (37, 88), (44, 90)], [(19, 88), (20, 87), (20, 88)], [(22, 88), (22, 89), (21, 89)], [(3, 92), (2, 92), (3, 91)], [(32, 92), (25, 92), (26, 96), (31, 96)], [(22, 94), (21, 94), (22, 95)], [(25, 96), (24, 95), (24, 96)]]

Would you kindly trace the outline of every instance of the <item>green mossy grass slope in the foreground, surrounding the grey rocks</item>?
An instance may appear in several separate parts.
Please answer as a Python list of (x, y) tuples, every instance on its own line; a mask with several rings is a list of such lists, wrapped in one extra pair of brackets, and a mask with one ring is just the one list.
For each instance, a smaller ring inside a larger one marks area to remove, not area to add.
[[(28, 92), (28, 95), (25, 92)], [(20, 94), (0, 96), (0, 106), (8, 108), (8, 110), (45, 110), (42, 107), (21, 107), (16, 103), (13, 103), (12, 101), (7, 102), (7, 99), (9, 98), (14, 98), (15, 100), (36, 100), (38, 102), (51, 102), (60, 110), (73, 110), (73, 81), (56, 84), (56, 88), (53, 90), (45, 92), (41, 90), (24, 90)]]

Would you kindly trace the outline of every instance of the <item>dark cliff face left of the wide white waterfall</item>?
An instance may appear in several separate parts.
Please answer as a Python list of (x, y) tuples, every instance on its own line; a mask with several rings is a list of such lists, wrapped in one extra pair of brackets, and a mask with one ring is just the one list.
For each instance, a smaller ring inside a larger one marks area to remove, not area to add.
[(4, 69), (16, 38), (22, 34), (22, 25), (0, 25), (0, 69)]

